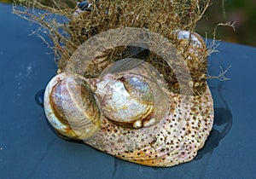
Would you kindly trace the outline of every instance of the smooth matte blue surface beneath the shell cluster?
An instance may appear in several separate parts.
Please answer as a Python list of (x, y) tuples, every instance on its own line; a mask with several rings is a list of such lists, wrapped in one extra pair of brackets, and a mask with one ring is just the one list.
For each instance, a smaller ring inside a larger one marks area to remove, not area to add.
[(256, 178), (256, 48), (220, 43), (210, 56), (209, 73), (232, 66), (231, 79), (209, 80), (216, 118), (199, 156), (145, 167), (55, 135), (34, 99), (55, 75), (54, 55), (11, 11), (0, 3), (0, 178)]

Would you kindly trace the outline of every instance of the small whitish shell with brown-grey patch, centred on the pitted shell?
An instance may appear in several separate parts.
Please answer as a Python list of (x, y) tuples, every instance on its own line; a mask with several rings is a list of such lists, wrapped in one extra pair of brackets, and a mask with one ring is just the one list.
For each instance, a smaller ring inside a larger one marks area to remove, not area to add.
[(95, 93), (103, 115), (115, 124), (136, 129), (154, 120), (155, 96), (149, 82), (136, 74), (108, 74), (98, 80)]

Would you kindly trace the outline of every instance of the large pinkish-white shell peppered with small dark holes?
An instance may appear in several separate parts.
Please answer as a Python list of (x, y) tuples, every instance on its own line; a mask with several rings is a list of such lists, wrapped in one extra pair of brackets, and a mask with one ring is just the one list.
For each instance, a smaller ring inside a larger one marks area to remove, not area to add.
[[(139, 130), (119, 127), (102, 118), (101, 130), (86, 141), (92, 147), (141, 165), (172, 166), (194, 159), (212, 130), (212, 96), (168, 93), (168, 115), (158, 124)], [(183, 100), (192, 101), (182, 104)]]

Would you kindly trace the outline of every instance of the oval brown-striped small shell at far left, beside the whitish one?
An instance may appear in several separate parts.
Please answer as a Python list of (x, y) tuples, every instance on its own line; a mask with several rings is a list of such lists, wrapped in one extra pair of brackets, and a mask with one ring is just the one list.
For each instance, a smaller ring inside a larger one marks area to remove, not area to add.
[(49, 82), (44, 94), (49, 123), (62, 136), (85, 140), (100, 126), (101, 113), (88, 84), (61, 73)]

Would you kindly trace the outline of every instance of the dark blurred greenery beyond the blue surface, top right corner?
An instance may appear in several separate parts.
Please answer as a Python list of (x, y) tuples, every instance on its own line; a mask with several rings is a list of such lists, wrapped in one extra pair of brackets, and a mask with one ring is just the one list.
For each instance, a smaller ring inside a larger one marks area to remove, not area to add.
[[(12, 0), (0, 2), (11, 3)], [(229, 26), (218, 26), (217, 40), (256, 46), (256, 0), (212, 0), (196, 31), (203, 37), (207, 34), (207, 38), (213, 38), (215, 26), (225, 22), (236, 22), (236, 30)]]

